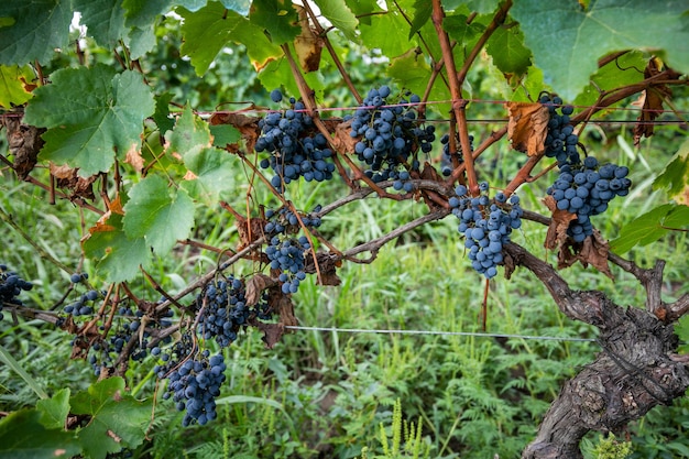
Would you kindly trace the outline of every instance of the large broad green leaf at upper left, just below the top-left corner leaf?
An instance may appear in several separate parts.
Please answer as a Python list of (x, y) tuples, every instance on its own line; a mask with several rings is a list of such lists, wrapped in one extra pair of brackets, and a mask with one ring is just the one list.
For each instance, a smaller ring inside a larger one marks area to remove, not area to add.
[(79, 168), (87, 177), (108, 171), (117, 155), (138, 150), (143, 120), (155, 105), (141, 75), (110, 67), (66, 68), (37, 88), (24, 121), (48, 128), (41, 156)]

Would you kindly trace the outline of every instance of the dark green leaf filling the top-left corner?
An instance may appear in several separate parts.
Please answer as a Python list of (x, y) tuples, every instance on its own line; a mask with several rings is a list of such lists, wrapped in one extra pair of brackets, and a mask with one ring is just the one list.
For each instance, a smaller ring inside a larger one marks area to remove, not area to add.
[(72, 2), (22, 0), (0, 2), (0, 64), (45, 63), (67, 46)]

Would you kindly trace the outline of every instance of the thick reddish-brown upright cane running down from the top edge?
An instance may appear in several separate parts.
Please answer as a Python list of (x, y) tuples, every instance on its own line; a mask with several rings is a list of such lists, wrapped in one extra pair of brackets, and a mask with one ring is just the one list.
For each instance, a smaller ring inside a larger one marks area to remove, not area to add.
[(479, 181), (477, 171), (473, 166), (473, 156), (471, 154), (471, 142), (469, 141), (469, 128), (467, 124), (467, 100), (463, 99), (461, 92), (461, 84), (457, 78), (457, 67), (455, 66), (455, 56), (452, 55), (452, 47), (450, 46), (450, 39), (447, 32), (442, 29), (442, 20), (445, 19), (445, 12), (440, 0), (433, 0), (433, 13), (430, 15), (433, 24), (438, 35), (440, 43), (440, 50), (442, 51), (442, 61), (445, 62), (445, 68), (448, 73), (448, 80), (450, 84), (450, 96), (452, 99), (452, 113), (458, 124), (459, 142), (464, 156), (464, 165), (467, 168), (467, 179), (469, 182), (469, 193), (477, 195), (479, 193)]

